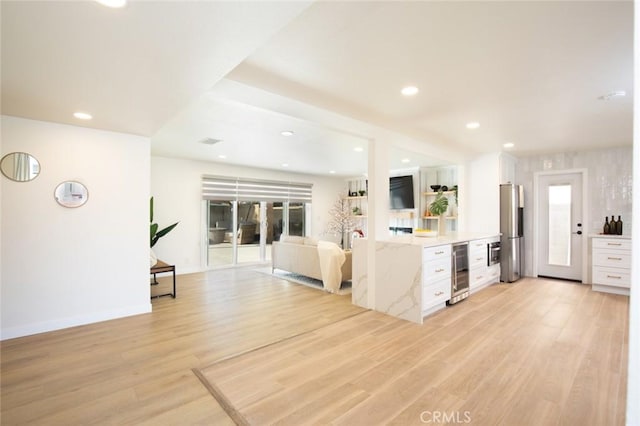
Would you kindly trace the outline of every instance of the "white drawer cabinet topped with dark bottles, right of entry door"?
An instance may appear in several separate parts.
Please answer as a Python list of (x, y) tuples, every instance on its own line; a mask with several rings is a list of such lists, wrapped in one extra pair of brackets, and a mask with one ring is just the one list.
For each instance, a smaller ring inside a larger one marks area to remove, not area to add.
[(592, 236), (591, 288), (629, 295), (631, 287), (631, 238)]

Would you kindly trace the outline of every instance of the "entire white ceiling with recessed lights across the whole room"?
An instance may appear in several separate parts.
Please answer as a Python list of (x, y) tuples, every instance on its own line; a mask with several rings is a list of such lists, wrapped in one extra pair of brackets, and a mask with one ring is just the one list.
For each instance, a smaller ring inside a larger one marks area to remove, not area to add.
[(156, 155), (349, 175), (380, 128), (418, 143), (393, 167), (632, 143), (631, 1), (1, 6), (3, 114), (150, 136)]

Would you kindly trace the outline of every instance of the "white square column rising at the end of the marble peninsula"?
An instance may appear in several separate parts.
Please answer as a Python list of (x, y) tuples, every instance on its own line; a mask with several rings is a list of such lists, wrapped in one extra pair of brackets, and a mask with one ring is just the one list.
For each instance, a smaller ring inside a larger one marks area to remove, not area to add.
[(369, 142), (369, 220), (367, 229), (367, 305), (375, 308), (376, 240), (389, 237), (389, 146), (379, 140)]

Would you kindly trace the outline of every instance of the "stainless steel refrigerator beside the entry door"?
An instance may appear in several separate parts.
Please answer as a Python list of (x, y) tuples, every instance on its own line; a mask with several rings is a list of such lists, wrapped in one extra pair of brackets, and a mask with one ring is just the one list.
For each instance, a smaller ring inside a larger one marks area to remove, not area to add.
[(522, 185), (500, 185), (500, 281), (512, 283), (524, 272), (524, 192)]

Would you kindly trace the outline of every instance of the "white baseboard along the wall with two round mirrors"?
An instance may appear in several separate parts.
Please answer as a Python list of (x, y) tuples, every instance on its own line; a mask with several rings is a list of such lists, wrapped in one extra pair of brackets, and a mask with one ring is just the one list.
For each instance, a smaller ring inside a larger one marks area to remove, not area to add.
[(97, 312), (88, 315), (78, 315), (70, 318), (60, 318), (51, 321), (43, 321), (35, 324), (26, 324), (17, 327), (2, 328), (0, 340), (14, 339), (16, 337), (30, 336), (32, 334), (46, 333), (48, 331), (61, 330), (63, 328), (79, 325), (93, 324), (117, 318), (133, 315), (147, 314), (151, 312), (151, 302), (136, 306), (127, 306), (109, 311)]

